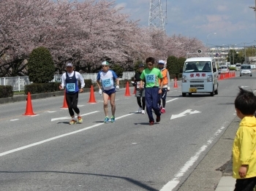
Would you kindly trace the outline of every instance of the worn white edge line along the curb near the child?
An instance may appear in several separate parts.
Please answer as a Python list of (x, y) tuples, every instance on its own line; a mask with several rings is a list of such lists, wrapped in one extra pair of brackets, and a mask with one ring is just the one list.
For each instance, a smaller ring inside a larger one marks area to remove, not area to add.
[(187, 161), (187, 163), (185, 163), (184, 166), (178, 171), (178, 173), (174, 175), (174, 178), (172, 180), (170, 180), (169, 182), (167, 182), (167, 184), (165, 184), (165, 186), (162, 187), (162, 189), (160, 191), (172, 191), (180, 182), (181, 177), (184, 176), (184, 174), (195, 163), (195, 161), (197, 161), (198, 157), (202, 154), (202, 152), (204, 152), (207, 149), (207, 147), (214, 141), (214, 139), (216, 139), (217, 136), (219, 136), (219, 133), (221, 133), (224, 128), (225, 127), (222, 127), (219, 130), (217, 130), (217, 132), (214, 133), (214, 136), (212, 136), (211, 139), (209, 139), (207, 141), (207, 143), (204, 144), (195, 153), (194, 156), (190, 157), (190, 159)]

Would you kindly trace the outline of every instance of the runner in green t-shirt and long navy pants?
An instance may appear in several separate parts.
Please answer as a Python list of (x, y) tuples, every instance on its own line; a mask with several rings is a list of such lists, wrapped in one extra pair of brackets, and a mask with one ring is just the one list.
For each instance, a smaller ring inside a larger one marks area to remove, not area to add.
[[(148, 113), (149, 125), (154, 125), (152, 109), (157, 115), (157, 122), (160, 122), (160, 108), (158, 106), (159, 95), (162, 93), (162, 73), (159, 69), (154, 68), (154, 58), (146, 58), (148, 69), (144, 69), (140, 75), (140, 89), (143, 88), (143, 81), (146, 81), (145, 98), (146, 110)], [(160, 79), (160, 85), (159, 80)]]

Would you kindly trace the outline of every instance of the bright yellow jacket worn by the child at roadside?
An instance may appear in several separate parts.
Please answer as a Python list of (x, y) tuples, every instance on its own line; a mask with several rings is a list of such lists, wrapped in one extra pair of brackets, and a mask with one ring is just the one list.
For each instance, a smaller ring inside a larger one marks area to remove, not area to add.
[(241, 165), (248, 165), (244, 178), (256, 176), (256, 118), (244, 117), (233, 142), (233, 178), (241, 179), (238, 174)]

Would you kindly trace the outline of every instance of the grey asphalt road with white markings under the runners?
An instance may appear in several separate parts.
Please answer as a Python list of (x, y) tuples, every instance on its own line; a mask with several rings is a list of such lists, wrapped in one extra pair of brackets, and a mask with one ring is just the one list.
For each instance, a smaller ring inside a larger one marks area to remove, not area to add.
[(202, 163), (210, 172), (230, 159), (234, 130), (216, 151), (223, 158), (213, 149), (236, 120), (238, 86), (255, 90), (254, 74), (220, 80), (214, 97), (182, 97), (178, 82), (167, 93), (161, 122), (152, 126), (147, 114), (135, 112), (132, 87), (131, 96), (116, 93), (116, 122), (108, 124), (97, 93), (96, 104), (88, 103), (89, 93), (79, 95), (80, 125), (68, 124), (63, 96), (32, 100), (34, 116), (23, 115), (26, 101), (2, 104), (0, 190), (198, 190), (203, 182), (204, 190), (214, 190), (221, 171), (195, 172)]

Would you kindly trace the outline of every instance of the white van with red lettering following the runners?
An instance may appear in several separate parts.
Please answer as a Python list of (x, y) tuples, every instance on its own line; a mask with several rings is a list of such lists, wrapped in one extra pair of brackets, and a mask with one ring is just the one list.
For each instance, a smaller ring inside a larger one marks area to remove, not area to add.
[(187, 58), (182, 73), (181, 92), (183, 97), (187, 93), (218, 94), (218, 71), (214, 58)]

